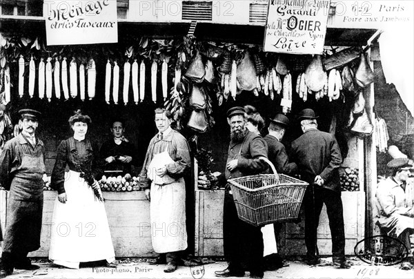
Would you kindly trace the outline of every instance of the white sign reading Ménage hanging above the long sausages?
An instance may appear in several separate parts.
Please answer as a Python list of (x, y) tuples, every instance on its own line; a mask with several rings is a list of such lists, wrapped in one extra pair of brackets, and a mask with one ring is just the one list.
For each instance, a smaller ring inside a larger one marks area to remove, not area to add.
[(117, 43), (117, 1), (45, 0), (48, 46)]

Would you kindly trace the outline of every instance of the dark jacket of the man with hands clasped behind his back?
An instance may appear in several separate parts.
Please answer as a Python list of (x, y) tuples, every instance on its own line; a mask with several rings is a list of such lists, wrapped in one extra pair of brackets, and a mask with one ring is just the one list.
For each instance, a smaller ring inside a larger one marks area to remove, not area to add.
[(324, 188), (341, 191), (338, 168), (342, 156), (334, 135), (316, 128), (306, 131), (292, 142), (290, 158), (297, 164), (302, 180), (312, 185), (315, 176), (320, 175)]

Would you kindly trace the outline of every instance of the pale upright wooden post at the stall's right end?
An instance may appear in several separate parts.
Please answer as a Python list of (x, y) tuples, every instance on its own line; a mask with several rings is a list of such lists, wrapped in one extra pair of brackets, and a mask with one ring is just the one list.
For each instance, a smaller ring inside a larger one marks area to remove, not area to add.
[[(373, 46), (368, 50), (368, 62), (370, 64), (371, 69), (374, 70), (373, 61), (371, 61), (371, 51), (372, 48), (375, 48), (377, 45), (373, 44)], [(373, 112), (373, 107), (375, 104), (375, 90), (374, 84), (372, 83), (371, 86), (366, 88), (365, 90), (365, 99), (366, 99), (366, 113), (368, 113), (368, 117), (371, 119), (371, 123), (375, 124), (375, 114)], [(365, 182), (365, 189), (366, 189), (366, 230), (365, 236), (372, 236), (374, 235), (375, 229), (375, 220), (373, 216), (373, 206), (375, 206), (375, 191), (377, 190), (377, 151), (375, 146), (375, 133), (371, 135), (371, 137), (367, 137), (364, 140), (364, 182)], [(369, 243), (366, 243), (368, 246)]]

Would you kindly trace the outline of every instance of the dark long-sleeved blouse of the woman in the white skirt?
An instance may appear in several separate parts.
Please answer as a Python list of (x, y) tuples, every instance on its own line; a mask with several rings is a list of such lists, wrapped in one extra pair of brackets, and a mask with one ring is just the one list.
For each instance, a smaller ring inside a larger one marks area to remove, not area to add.
[(69, 167), (70, 171), (77, 171), (75, 165), (76, 158), (83, 166), (89, 166), (92, 169), (92, 175), (98, 177), (101, 174), (101, 168), (97, 164), (97, 155), (95, 154), (98, 148), (92, 147), (88, 139), (77, 141), (73, 137), (63, 140), (57, 148), (57, 157), (55, 166), (53, 167), (50, 186), (57, 190), (57, 193), (65, 193), (65, 169)]

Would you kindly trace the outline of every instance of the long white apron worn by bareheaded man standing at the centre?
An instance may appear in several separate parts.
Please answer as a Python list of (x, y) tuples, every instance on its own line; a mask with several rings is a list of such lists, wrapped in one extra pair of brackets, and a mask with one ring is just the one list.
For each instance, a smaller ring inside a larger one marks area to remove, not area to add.
[[(174, 162), (168, 151), (154, 155), (148, 173)], [(155, 175), (157, 176), (157, 175)], [(152, 247), (157, 253), (168, 253), (187, 249), (186, 230), (186, 184), (181, 177), (175, 182), (172, 177), (152, 176), (150, 190), (150, 221)], [(156, 184), (160, 183), (160, 184)]]

